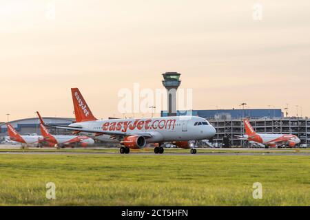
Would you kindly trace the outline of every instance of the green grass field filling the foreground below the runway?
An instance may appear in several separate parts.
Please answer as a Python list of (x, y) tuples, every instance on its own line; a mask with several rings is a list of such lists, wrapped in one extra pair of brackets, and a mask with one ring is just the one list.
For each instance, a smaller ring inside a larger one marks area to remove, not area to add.
[[(263, 199), (252, 197), (255, 182)], [(2, 206), (310, 206), (310, 159), (0, 155), (0, 184)]]

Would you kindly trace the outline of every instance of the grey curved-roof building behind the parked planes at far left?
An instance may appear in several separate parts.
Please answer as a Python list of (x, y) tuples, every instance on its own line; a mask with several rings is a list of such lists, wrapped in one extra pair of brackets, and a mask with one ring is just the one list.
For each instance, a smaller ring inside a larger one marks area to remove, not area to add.
[[(53, 117), (45, 117), (43, 118), (46, 124), (57, 124), (57, 125), (69, 125), (75, 121), (74, 118), (53, 118)], [(14, 120), (9, 122), (12, 124), (14, 129), (17, 130), (21, 135), (33, 134), (37, 133), (41, 135), (39, 118), (25, 118), (21, 120)], [(64, 129), (49, 129), (50, 132), (54, 135), (68, 135), (72, 134), (70, 131), (66, 131)], [(8, 128), (6, 127), (6, 123), (0, 123), (0, 137), (8, 135)]]

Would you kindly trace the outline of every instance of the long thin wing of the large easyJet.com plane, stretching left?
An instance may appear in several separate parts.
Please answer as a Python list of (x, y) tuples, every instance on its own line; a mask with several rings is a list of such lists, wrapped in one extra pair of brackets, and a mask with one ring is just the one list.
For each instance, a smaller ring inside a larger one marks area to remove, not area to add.
[(98, 131), (94, 129), (83, 129), (78, 126), (59, 126), (54, 124), (44, 124), (45, 126), (49, 126), (54, 129), (65, 129), (69, 131), (80, 131), (80, 132), (87, 132), (87, 133), (95, 133), (96, 136), (99, 135), (117, 135), (117, 136), (132, 136), (132, 135), (141, 135), (143, 137), (153, 137), (151, 133), (132, 133), (132, 132), (122, 132), (122, 131)]

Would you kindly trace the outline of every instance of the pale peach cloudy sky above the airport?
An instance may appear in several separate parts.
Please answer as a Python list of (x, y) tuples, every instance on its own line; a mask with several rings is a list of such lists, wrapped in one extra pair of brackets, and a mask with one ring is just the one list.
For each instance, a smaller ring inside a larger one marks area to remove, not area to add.
[(0, 122), (72, 117), (71, 87), (97, 118), (122, 117), (118, 91), (161, 89), (165, 72), (182, 74), (193, 109), (288, 103), (310, 116), (309, 11), (309, 0), (0, 0)]

